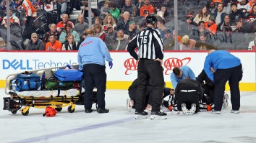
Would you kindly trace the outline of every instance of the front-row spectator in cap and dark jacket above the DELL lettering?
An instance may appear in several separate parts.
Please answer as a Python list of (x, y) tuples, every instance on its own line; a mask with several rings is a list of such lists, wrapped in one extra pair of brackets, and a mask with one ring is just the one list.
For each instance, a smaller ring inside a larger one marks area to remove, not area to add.
[(26, 50), (45, 50), (44, 42), (38, 39), (38, 34), (32, 33), (31, 40), (27, 43)]

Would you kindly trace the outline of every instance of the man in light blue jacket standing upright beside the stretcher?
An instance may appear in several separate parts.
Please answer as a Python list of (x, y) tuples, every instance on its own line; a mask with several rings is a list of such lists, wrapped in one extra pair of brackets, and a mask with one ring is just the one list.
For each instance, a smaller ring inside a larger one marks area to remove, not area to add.
[(98, 37), (94, 36), (93, 29), (85, 30), (86, 38), (81, 43), (77, 60), (80, 70), (84, 72), (85, 80), (85, 113), (91, 113), (93, 105), (93, 88), (97, 88), (98, 113), (108, 113), (105, 109), (105, 91), (106, 91), (106, 67), (105, 60), (112, 68), (112, 58), (108, 52), (106, 44)]

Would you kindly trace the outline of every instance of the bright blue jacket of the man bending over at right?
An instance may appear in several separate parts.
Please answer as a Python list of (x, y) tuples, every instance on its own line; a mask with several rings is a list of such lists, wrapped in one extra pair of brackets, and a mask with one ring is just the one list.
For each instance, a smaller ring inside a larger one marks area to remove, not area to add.
[[(213, 80), (212, 67), (215, 71), (218, 69), (234, 68), (241, 64), (239, 58), (231, 55), (226, 50), (216, 50), (205, 58), (204, 70), (210, 80)], [(214, 81), (214, 80), (213, 80)]]

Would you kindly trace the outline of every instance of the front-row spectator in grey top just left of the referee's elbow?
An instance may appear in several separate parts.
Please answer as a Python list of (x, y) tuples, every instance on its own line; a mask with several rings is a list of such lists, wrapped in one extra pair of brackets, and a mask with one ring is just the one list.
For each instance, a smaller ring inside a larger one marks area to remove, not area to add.
[(127, 40), (124, 37), (124, 31), (122, 29), (119, 29), (117, 31), (117, 38), (114, 41), (112, 50), (126, 50), (128, 44), (129, 44), (129, 40)]

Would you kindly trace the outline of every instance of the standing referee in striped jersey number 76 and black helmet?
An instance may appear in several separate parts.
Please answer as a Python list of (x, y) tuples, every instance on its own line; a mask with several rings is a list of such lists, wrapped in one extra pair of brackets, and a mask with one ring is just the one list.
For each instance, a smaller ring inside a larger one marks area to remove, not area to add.
[[(166, 113), (160, 111), (163, 95), (163, 40), (157, 28), (157, 19), (149, 15), (145, 19), (147, 27), (129, 42), (127, 50), (132, 57), (139, 60), (138, 87), (136, 95), (135, 119), (145, 119), (148, 115), (144, 111), (145, 91), (149, 80), (153, 81), (153, 101), (150, 119), (167, 119)], [(138, 55), (135, 48), (138, 48)]]

